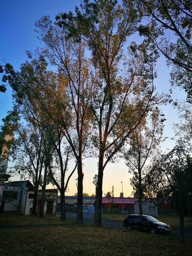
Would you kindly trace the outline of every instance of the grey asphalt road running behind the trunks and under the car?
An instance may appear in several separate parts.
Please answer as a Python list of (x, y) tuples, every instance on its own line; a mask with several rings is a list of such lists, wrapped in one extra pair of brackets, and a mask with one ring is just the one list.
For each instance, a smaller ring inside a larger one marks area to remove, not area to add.
[[(60, 215), (60, 212), (57, 212), (57, 215)], [(91, 215), (93, 215), (93, 214), (91, 214), (91, 213), (84, 213), (83, 214), (84, 224), (93, 225), (93, 218), (90, 218)], [(75, 212), (66, 212), (66, 218), (69, 221), (75, 221), (76, 220), (76, 213)], [(119, 222), (102, 221), (102, 226), (103, 227), (118, 228), (120, 230), (126, 230), (126, 228), (123, 227), (122, 223), (119, 223)], [(169, 236), (180, 236), (179, 228), (172, 229), (172, 233)], [(186, 238), (192, 238), (192, 228), (186, 228), (185, 229), (185, 237)]]

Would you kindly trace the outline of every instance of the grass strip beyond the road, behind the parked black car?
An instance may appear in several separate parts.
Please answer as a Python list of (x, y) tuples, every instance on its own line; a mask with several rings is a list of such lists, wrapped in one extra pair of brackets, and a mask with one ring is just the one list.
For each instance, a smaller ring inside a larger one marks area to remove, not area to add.
[[(126, 214), (103, 214), (103, 218), (112, 219), (112, 220), (118, 220), (123, 221)], [(159, 215), (157, 218), (159, 221), (162, 221), (166, 224), (171, 225), (172, 227), (179, 227), (179, 217), (178, 216), (172, 216), (172, 215)], [(184, 217), (184, 225), (185, 227), (192, 226), (192, 222), (189, 217)]]

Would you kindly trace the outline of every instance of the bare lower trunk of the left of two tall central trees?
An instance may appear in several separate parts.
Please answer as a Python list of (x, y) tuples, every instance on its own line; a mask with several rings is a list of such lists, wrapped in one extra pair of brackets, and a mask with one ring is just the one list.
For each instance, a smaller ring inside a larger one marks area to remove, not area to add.
[(83, 223), (83, 169), (82, 156), (79, 156), (78, 166), (78, 184), (77, 184), (77, 223)]

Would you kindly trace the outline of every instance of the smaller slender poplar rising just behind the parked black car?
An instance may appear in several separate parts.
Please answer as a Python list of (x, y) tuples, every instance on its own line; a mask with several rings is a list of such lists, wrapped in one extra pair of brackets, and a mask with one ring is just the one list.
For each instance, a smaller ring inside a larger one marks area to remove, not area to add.
[(140, 122), (129, 136), (127, 148), (121, 150), (129, 172), (133, 174), (131, 185), (138, 195), (141, 215), (143, 214), (142, 199), (145, 198), (145, 178), (151, 172), (152, 163), (160, 154), (164, 121), (163, 113), (156, 108)]

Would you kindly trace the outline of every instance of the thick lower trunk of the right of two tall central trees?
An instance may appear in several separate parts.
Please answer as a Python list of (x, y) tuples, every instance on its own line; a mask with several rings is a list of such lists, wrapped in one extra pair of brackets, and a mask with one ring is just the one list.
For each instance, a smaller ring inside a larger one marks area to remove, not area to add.
[(103, 184), (103, 159), (104, 153), (99, 157), (98, 180), (96, 185), (96, 202), (94, 223), (95, 227), (102, 227), (102, 184)]

